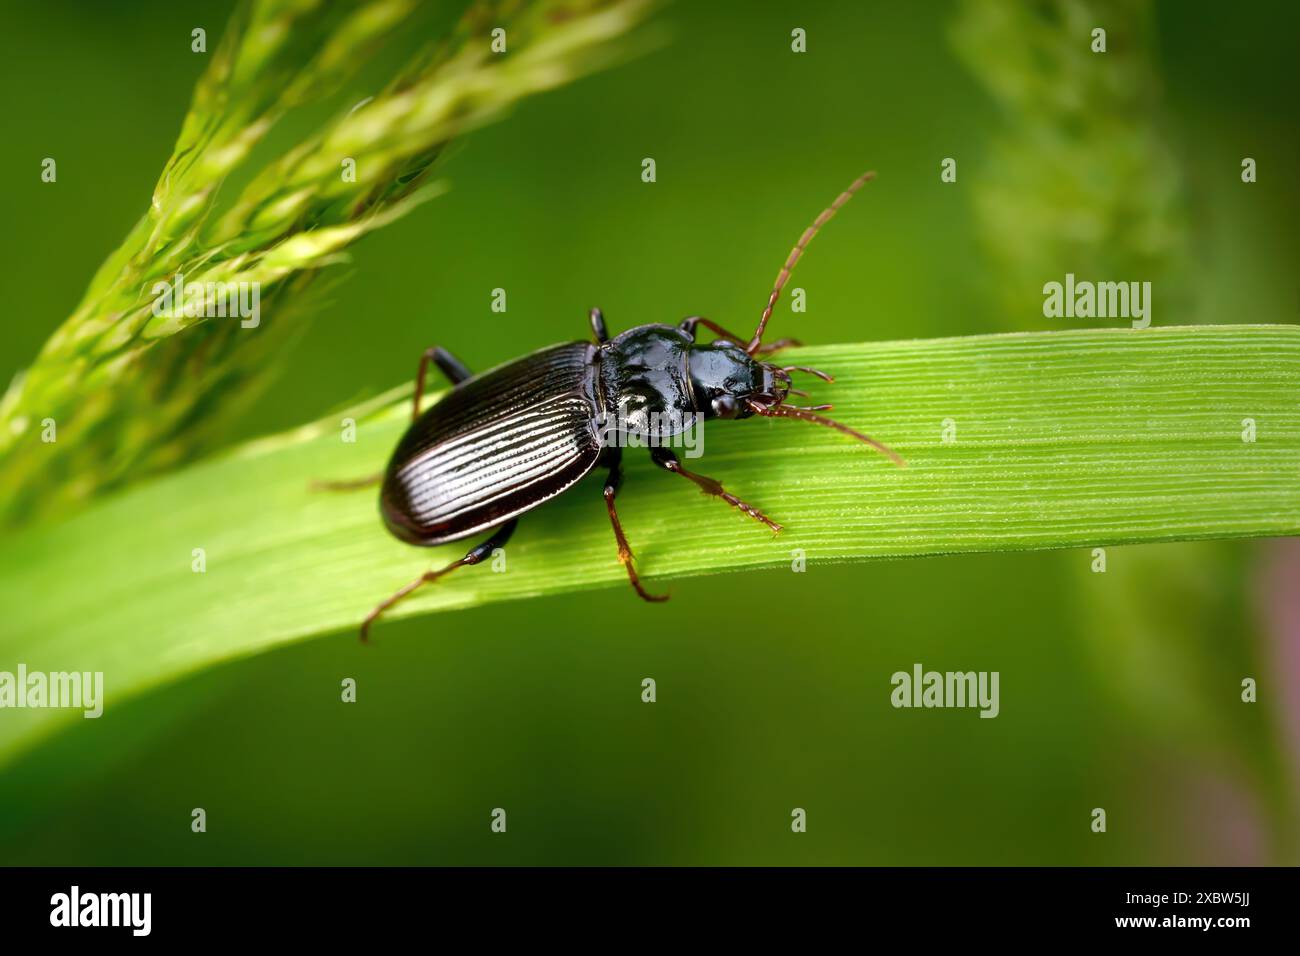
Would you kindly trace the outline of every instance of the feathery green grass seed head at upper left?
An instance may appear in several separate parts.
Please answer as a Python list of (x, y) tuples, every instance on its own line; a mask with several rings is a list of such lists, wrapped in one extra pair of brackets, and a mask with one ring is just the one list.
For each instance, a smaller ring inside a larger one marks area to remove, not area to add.
[[(415, 0), (240, 4), (148, 211), (0, 392), (0, 527), (66, 512), (220, 447), (351, 247), (445, 189), (433, 173), (446, 147), (624, 56), (618, 42), (649, 7), (472, 0), (384, 88), (354, 91), (332, 120), (264, 161), (255, 147), (286, 114), (328, 103), (385, 40), (425, 25)], [(508, 52), (493, 52), (494, 29), (508, 33)], [(237, 170), (252, 179), (222, 212), (221, 187)], [(179, 276), (199, 289), (242, 287), (246, 307), (259, 290), (255, 321), (225, 307), (213, 315), (214, 290), (203, 315), (156, 313)], [(47, 420), (61, 440), (39, 450)]]

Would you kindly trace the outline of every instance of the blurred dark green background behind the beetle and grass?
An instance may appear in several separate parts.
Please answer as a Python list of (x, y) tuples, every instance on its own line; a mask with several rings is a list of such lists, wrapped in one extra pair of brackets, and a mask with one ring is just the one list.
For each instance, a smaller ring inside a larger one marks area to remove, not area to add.
[[(204, 68), (190, 30), (211, 49), (229, 9), (4, 4), (5, 378), (140, 215)], [(1065, 272), (1157, 280), (1157, 324), (1297, 319), (1290, 4), (655, 20), (659, 48), (456, 147), (451, 191), (361, 243), (243, 437), (406, 381), (433, 343), (485, 368), (584, 338), (595, 304), (615, 329), (749, 328), (866, 168), (792, 284), (807, 312), (775, 333), (1050, 328), (1039, 289)], [(1044, 62), (1053, 44), (1076, 59)], [(630, 470), (633, 545), (658, 480)], [(391, 622), (373, 646), (337, 633), (110, 702), (0, 767), (0, 862), (1294, 864), (1294, 544), (1110, 549), (1100, 575), (1086, 551), (812, 564), (676, 581), (664, 606), (618, 588)], [(894, 710), (889, 676), (915, 662), (1000, 671), (1000, 717)]]

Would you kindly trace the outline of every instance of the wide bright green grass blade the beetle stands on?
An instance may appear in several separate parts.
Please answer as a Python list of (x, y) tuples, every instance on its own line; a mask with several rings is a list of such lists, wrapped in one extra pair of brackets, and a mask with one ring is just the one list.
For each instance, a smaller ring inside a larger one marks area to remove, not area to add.
[[(833, 371), (816, 399), (907, 467), (803, 423), (712, 423), (692, 467), (785, 524), (774, 537), (630, 451), (620, 511), (655, 585), (788, 567), (796, 549), (815, 566), (1300, 532), (1297, 326), (838, 345), (797, 360)], [(407, 410), (381, 405), (354, 414), (355, 442), (332, 418), (12, 535), (0, 670), (103, 671), (110, 719), (122, 698), (217, 662), (316, 635), (355, 640), (378, 600), (465, 549), (396, 542), (372, 490), (308, 489), (382, 467)], [(393, 614), (598, 587), (627, 584), (589, 479), (521, 520), (503, 574), (459, 571)], [(671, 611), (629, 591), (628, 614)], [(382, 654), (382, 624), (376, 637), (356, 653)], [(0, 756), (78, 717), (0, 711)]]

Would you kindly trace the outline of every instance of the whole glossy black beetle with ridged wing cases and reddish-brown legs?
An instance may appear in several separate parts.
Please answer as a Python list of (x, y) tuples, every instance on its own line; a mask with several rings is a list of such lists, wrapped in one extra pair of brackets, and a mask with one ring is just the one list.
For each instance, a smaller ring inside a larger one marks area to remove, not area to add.
[[(402, 541), (433, 546), (494, 529), (491, 536), (446, 567), (420, 575), (381, 602), (361, 623), (361, 640), (384, 611), (416, 588), (458, 567), (477, 564), (510, 540), (519, 515), (567, 490), (597, 466), (607, 468), (604, 507), (610, 514), (619, 561), (628, 580), (646, 601), (664, 601), (641, 585), (632, 549), (614, 506), (623, 480), (623, 449), (602, 438), (607, 411), (619, 410), (633, 428), (671, 438), (708, 419), (797, 419), (835, 428), (889, 455), (893, 450), (816, 412), (828, 405), (786, 405), (790, 373), (805, 372), (824, 381), (829, 375), (805, 365), (777, 365), (762, 356), (788, 346), (793, 338), (762, 343), (772, 307), (790, 271), (818, 229), (875, 173), (863, 173), (803, 230), (776, 276), (758, 328), (741, 346), (741, 336), (702, 316), (677, 325), (638, 325), (610, 338), (601, 310), (590, 313), (595, 342), (567, 342), (472, 375), (451, 352), (429, 349), (416, 373), (412, 421), (398, 442), (382, 475), (361, 481), (322, 483), (324, 488), (360, 488), (382, 481), (380, 510), (389, 531)], [(703, 325), (719, 336), (701, 345), (696, 330)], [(429, 363), (451, 381), (452, 389), (420, 412), (420, 397)], [(667, 427), (650, 423), (668, 421)], [(762, 511), (724, 490), (711, 477), (686, 471), (671, 447), (650, 447), (655, 464), (722, 498), (774, 532), (776, 524)]]

